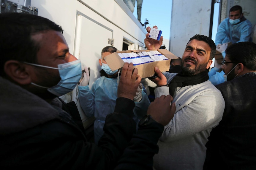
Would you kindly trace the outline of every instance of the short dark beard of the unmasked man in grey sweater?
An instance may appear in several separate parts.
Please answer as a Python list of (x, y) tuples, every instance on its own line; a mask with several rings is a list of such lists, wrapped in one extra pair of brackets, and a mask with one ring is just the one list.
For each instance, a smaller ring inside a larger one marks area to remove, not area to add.
[[(190, 68), (191, 64), (186, 64), (184, 66), (184, 61), (188, 60), (188, 59), (195, 63), (195, 69), (191, 69)], [(208, 64), (208, 62), (204, 63), (204, 64), (198, 64), (195, 59), (191, 59), (190, 57), (186, 58), (185, 60), (183, 60), (183, 62), (181, 63), (181, 69), (182, 69), (182, 73), (184, 75), (188, 75), (188, 76), (197, 75), (197, 74), (205, 71), (206, 70), (206, 66)]]

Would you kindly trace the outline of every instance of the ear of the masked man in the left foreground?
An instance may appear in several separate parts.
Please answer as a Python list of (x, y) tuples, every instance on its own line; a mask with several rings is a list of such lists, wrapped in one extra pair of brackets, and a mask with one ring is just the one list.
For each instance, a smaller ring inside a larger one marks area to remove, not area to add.
[(4, 72), (13, 81), (20, 85), (28, 85), (31, 83), (31, 78), (26, 71), (25, 64), (16, 60), (6, 61), (4, 64)]

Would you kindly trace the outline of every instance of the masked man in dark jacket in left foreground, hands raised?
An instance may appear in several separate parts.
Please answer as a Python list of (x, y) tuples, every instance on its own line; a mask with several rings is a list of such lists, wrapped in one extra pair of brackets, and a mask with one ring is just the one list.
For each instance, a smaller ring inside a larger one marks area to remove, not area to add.
[(157, 140), (176, 109), (170, 95), (151, 103), (136, 132), (132, 100), (141, 77), (125, 63), (105, 134), (98, 146), (88, 143), (69, 113), (76, 106), (56, 98), (82, 73), (62, 28), (22, 13), (1, 13), (0, 23), (0, 169), (152, 169)]

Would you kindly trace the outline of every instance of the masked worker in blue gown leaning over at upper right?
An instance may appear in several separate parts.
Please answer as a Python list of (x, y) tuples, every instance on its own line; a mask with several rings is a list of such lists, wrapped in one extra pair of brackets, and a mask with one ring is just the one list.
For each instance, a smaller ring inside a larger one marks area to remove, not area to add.
[(252, 41), (252, 23), (247, 20), (242, 11), (242, 7), (235, 5), (229, 10), (229, 17), (223, 20), (215, 38), (216, 50), (225, 57), (227, 43), (238, 43)]

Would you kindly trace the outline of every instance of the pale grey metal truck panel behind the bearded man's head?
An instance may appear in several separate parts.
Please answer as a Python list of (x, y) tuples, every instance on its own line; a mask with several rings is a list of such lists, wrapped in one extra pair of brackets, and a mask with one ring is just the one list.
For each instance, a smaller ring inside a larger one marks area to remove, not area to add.
[(181, 57), (189, 38), (209, 36), (210, 14), (211, 0), (173, 0), (170, 51)]

